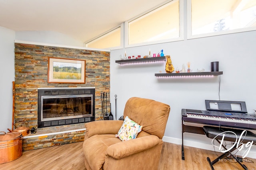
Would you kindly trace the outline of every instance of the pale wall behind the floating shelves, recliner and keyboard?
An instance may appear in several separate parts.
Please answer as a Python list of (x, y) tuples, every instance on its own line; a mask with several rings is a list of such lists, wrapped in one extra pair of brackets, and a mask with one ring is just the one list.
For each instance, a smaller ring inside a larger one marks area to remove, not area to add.
[[(182, 64), (191, 63), (191, 69), (204, 68), (210, 71), (210, 62), (219, 61), (220, 100), (244, 101), (248, 113), (256, 109), (256, 31), (190, 39), (157, 45), (112, 50), (110, 53), (110, 92), (112, 113), (115, 113), (117, 95), (117, 118), (126, 101), (133, 96), (150, 98), (169, 104), (170, 116), (165, 131), (165, 140), (181, 143), (181, 109), (205, 110), (205, 100), (218, 100), (218, 76), (214, 78), (169, 78), (158, 79), (154, 76), (160, 70), (165, 73), (165, 63), (121, 66), (115, 63), (119, 55), (126, 50), (127, 56), (148, 55), (161, 49), (164, 55), (170, 55), (172, 64), (181, 69)], [(199, 139), (200, 138), (200, 139)], [(203, 141), (202, 139), (203, 138)], [(185, 145), (197, 142), (209, 143), (203, 135), (184, 133)], [(199, 139), (199, 140), (198, 140)], [(205, 140), (205, 141), (204, 141)], [(256, 157), (256, 154), (254, 155)]]

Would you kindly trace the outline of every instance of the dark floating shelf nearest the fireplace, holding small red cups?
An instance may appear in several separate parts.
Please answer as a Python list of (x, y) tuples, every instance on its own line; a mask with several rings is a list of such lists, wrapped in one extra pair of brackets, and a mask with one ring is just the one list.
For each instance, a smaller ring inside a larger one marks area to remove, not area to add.
[(149, 57), (149, 58), (138, 58), (138, 59), (126, 59), (126, 60), (116, 60), (118, 64), (136, 64), (136, 63), (154, 63), (158, 61), (166, 61), (164, 57)]

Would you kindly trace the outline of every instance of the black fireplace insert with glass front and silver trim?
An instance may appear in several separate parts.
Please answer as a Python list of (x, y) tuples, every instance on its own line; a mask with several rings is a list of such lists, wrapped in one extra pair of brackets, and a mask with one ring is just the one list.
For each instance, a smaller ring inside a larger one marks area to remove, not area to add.
[(95, 88), (38, 88), (38, 128), (95, 121)]

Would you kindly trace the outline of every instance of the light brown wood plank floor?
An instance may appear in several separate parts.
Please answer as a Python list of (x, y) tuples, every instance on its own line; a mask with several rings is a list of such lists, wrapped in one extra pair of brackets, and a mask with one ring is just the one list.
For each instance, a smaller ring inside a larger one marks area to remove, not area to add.
[[(184, 147), (185, 160), (181, 159), (181, 145), (165, 143), (158, 170), (211, 170), (206, 157), (214, 160), (214, 151)], [(249, 170), (256, 170), (255, 163), (242, 162)], [(241, 170), (238, 163), (217, 162), (215, 170)], [(24, 151), (22, 156), (12, 162), (0, 164), (0, 170), (86, 170), (82, 142)], [(136, 168), (134, 168), (136, 170)]]

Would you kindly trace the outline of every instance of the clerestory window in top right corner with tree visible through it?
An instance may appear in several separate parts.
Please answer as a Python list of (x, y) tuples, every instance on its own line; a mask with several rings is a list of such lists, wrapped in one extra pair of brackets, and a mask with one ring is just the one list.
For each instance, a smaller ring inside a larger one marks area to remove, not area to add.
[(188, 39), (256, 30), (256, 0), (188, 0)]

